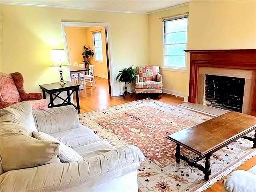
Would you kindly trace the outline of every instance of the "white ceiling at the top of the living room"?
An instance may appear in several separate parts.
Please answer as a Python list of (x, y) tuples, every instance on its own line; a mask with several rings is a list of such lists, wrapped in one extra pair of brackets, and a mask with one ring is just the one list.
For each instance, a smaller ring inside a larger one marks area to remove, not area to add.
[(151, 13), (186, 2), (188, 0), (1, 0), (2, 4), (23, 4), (132, 13)]

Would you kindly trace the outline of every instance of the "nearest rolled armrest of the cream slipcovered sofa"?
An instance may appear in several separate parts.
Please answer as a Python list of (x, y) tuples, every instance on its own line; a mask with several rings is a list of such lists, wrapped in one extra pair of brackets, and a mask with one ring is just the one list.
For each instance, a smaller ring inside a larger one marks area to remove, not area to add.
[(1, 175), (1, 191), (54, 191), (79, 184), (100, 184), (137, 170), (143, 160), (136, 146), (126, 145), (85, 161), (51, 163), (6, 172)]

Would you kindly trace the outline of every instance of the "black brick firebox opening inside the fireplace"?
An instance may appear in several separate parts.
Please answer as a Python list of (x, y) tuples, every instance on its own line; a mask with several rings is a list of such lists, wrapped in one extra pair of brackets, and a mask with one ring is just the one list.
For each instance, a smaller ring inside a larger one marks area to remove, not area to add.
[(205, 75), (204, 104), (242, 112), (244, 78)]

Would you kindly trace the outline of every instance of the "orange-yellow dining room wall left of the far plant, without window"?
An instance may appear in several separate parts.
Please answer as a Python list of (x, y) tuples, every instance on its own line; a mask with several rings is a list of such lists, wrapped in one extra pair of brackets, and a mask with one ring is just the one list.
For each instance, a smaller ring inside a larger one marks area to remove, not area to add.
[(86, 45), (86, 33), (86, 28), (65, 27), (70, 65), (74, 65), (74, 62), (82, 63), (84, 60), (82, 52)]

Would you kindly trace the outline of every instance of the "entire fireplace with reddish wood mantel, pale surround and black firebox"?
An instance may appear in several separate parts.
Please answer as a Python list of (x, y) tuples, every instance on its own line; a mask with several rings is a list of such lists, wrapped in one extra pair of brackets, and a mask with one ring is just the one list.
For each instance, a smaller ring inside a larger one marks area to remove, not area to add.
[(190, 52), (188, 102), (256, 116), (255, 49), (186, 51)]

